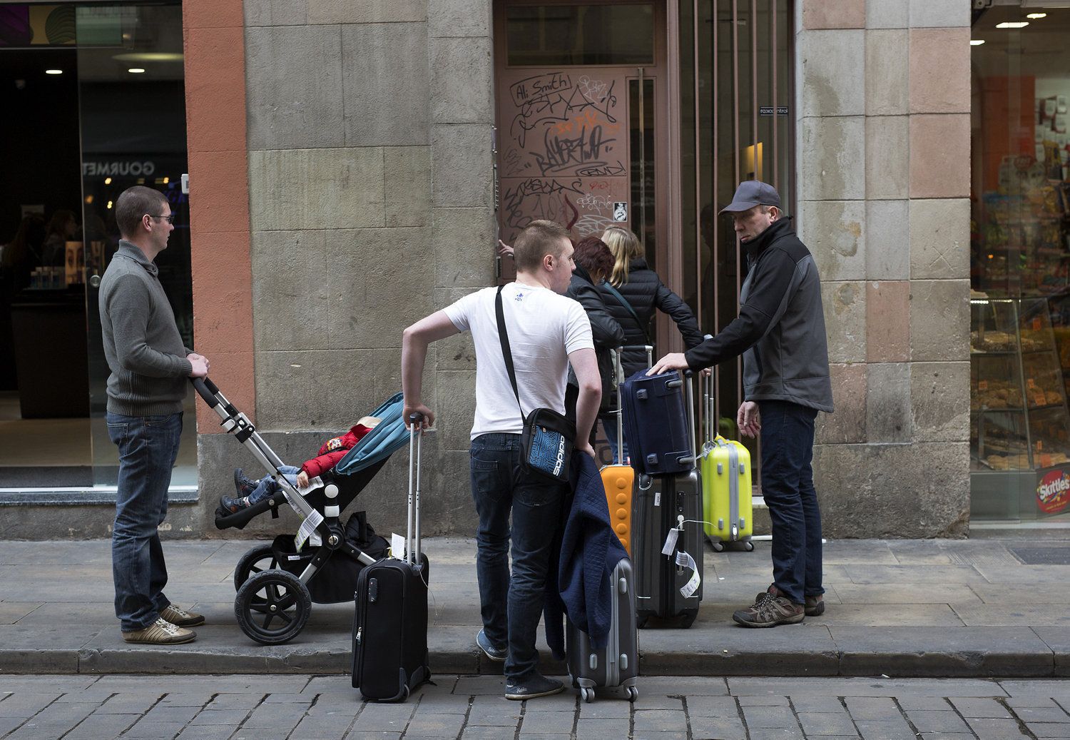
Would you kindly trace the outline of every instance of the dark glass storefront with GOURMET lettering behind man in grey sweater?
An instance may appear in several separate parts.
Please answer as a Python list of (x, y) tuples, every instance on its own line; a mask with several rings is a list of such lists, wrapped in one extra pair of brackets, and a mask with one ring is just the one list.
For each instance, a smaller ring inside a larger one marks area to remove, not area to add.
[[(177, 214), (156, 260), (193, 346), (182, 12), (0, 5), (0, 488), (114, 486), (97, 285), (135, 184)], [(174, 486), (197, 482), (193, 395)]]

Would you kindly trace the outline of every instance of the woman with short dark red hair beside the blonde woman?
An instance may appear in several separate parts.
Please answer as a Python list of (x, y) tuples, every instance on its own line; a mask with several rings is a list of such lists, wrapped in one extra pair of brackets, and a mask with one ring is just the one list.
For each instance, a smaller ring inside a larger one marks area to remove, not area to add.
[[(613, 362), (610, 359), (609, 350), (624, 344), (624, 329), (606, 309), (601, 293), (595, 286), (606, 280), (613, 269), (613, 253), (598, 237), (584, 237), (576, 243), (572, 260), (576, 262), (576, 269), (572, 270), (572, 282), (565, 295), (579, 301), (591, 320), (595, 357), (598, 358), (598, 374), (602, 380), (601, 411), (605, 412), (612, 409), (613, 404), (616, 403), (612, 392)], [(576, 376), (569, 368), (568, 388), (565, 390), (565, 413), (570, 419), (576, 418), (578, 395), (579, 387)], [(595, 431), (591, 429), (592, 445), (594, 444), (594, 436)]]

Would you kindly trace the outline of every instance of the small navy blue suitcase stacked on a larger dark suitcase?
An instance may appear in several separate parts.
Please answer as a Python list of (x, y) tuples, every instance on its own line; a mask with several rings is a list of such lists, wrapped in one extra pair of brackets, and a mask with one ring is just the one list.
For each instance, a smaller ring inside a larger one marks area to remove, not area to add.
[(664, 475), (694, 467), (683, 384), (675, 371), (652, 376), (640, 371), (621, 386), (628, 454), (639, 472)]

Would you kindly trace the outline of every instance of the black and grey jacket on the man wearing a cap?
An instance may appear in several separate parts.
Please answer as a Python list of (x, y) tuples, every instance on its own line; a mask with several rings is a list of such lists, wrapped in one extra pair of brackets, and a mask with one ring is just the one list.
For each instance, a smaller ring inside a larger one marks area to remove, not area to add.
[(747, 401), (789, 401), (832, 411), (828, 339), (817, 266), (790, 220), (774, 222), (745, 243), (750, 270), (739, 316), (686, 352), (692, 369), (743, 354)]

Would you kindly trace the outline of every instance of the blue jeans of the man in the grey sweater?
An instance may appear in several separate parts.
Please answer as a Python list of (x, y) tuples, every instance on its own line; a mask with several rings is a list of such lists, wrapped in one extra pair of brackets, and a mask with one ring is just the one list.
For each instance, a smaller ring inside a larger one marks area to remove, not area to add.
[(119, 492), (111, 530), (116, 616), (123, 632), (150, 626), (170, 604), (164, 595), (167, 567), (157, 527), (167, 516), (167, 488), (179, 454), (182, 413), (106, 416), (119, 448)]

